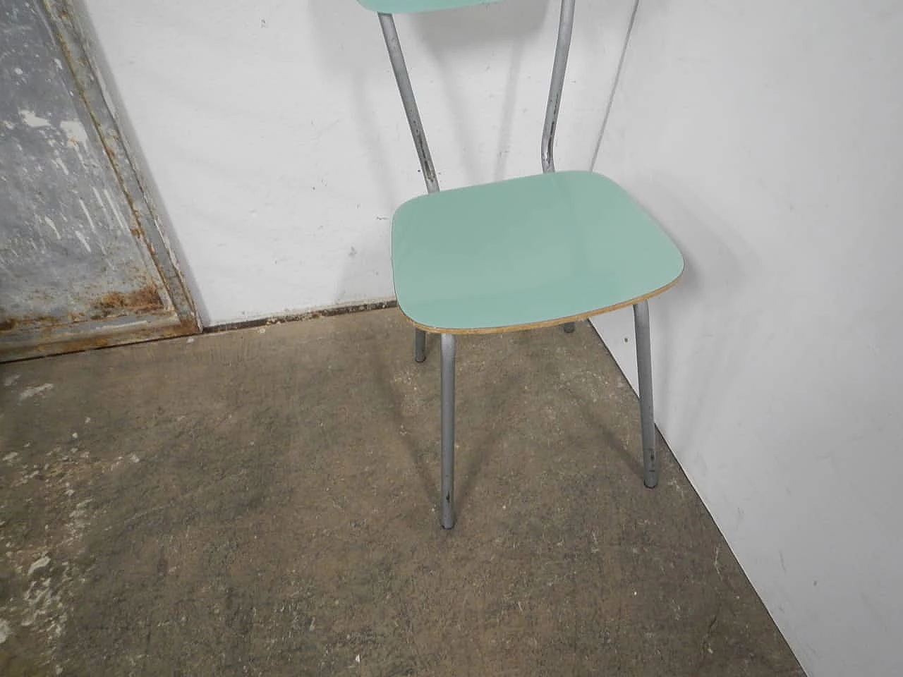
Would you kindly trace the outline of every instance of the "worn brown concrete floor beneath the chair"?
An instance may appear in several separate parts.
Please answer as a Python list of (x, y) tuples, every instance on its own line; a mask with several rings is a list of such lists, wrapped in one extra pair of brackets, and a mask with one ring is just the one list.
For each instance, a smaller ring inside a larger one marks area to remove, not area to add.
[(803, 675), (586, 323), (398, 311), (0, 366), (0, 674)]

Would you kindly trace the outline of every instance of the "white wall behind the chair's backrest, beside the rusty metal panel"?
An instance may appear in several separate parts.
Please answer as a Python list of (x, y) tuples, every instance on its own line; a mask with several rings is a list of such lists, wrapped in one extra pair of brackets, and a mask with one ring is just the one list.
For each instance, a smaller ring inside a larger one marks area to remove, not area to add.
[[(389, 218), (424, 184), (375, 15), (353, 0), (81, 2), (206, 325), (392, 296)], [(632, 6), (579, 8), (562, 167), (591, 165)], [(557, 12), (398, 19), (443, 186), (539, 170)]]

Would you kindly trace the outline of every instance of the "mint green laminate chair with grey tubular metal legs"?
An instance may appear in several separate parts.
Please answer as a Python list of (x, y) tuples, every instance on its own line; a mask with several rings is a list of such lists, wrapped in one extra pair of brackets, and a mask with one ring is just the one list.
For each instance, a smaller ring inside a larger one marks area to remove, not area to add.
[(633, 306), (644, 484), (656, 487), (656, 427), (647, 299), (684, 269), (674, 243), (614, 182), (554, 171), (554, 132), (571, 45), (575, 0), (562, 0), (545, 110), (543, 173), (439, 191), (393, 13), (498, 0), (358, 0), (377, 12), (427, 194), (396, 210), (392, 271), (399, 308), (414, 324), (414, 359), (425, 332), (441, 334), (442, 526), (454, 526), (455, 337), (563, 325)]

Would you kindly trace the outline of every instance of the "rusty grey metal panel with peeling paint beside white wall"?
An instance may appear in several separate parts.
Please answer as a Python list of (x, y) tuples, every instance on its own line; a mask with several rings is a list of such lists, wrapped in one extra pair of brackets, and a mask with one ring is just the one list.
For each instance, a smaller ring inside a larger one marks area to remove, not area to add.
[(0, 0), (0, 360), (196, 330), (67, 5)]

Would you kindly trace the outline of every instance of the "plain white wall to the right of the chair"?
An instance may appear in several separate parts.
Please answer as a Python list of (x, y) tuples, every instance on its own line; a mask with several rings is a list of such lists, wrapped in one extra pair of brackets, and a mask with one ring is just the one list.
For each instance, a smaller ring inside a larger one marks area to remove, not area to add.
[(903, 671), (900, 35), (897, 0), (643, 0), (598, 164), (684, 250), (656, 418), (811, 677)]

